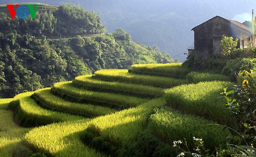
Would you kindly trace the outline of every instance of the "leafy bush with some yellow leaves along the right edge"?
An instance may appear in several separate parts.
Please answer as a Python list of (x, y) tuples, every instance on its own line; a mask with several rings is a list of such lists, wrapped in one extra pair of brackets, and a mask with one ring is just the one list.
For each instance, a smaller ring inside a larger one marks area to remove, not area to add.
[(232, 91), (224, 88), (226, 106), (236, 117), (233, 128), (238, 131), (239, 144), (256, 147), (256, 59), (241, 67), (238, 83)]

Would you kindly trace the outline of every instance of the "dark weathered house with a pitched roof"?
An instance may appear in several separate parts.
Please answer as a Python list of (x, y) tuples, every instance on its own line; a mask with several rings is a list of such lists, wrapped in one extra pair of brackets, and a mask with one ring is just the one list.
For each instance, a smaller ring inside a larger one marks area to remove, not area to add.
[(195, 36), (195, 55), (201, 54), (202, 59), (207, 59), (215, 53), (221, 52), (221, 39), (232, 36), (238, 39), (238, 48), (246, 48), (252, 41), (251, 29), (235, 20), (215, 16), (203, 24), (192, 29)]

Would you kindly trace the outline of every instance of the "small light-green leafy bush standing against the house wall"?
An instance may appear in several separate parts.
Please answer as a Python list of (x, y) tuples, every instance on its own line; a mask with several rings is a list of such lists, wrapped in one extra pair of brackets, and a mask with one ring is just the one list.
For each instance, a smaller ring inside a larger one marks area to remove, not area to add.
[(238, 46), (238, 39), (233, 40), (233, 37), (222, 36), (221, 40), (221, 55), (223, 57), (230, 57), (233, 50)]

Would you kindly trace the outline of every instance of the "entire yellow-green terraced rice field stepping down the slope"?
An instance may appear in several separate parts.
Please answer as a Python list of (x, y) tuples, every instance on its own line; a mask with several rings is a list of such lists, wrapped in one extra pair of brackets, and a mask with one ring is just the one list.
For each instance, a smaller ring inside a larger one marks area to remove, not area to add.
[[(0, 128), (0, 154), (141, 156), (144, 153), (176, 156), (181, 150), (172, 147), (172, 142), (193, 136), (203, 138), (214, 152), (225, 144), (224, 138), (229, 132), (207, 124), (231, 119), (223, 115), (225, 111), (218, 109), (223, 101), (214, 99), (219, 97), (216, 90), (230, 83), (215, 81), (187, 85), (184, 77), (187, 70), (175, 64), (175, 71), (168, 71), (170, 66), (155, 64), (143, 68), (139, 65), (141, 72), (148, 67), (164, 69), (157, 71), (157, 76), (146, 72), (135, 74), (133, 70), (101, 70), (95, 75), (56, 83), (51, 88), (1, 99), (0, 126), (4, 129)], [(179, 71), (181, 78), (164, 75), (172, 72), (177, 75)], [(198, 96), (201, 88), (197, 86), (205, 86), (209, 93)], [(190, 94), (186, 95), (184, 91)], [(210, 100), (207, 99), (209, 95)], [(196, 108), (191, 109), (191, 105)], [(198, 111), (202, 108), (212, 114), (202, 114)], [(142, 138), (144, 134), (152, 138)], [(188, 143), (193, 151), (191, 140)]]

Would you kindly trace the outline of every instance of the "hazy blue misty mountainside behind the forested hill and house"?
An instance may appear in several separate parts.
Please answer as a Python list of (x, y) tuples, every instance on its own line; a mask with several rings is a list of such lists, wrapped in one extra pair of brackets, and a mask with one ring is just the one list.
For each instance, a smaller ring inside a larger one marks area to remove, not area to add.
[(80, 5), (99, 13), (106, 31), (124, 29), (134, 41), (158, 46), (174, 59), (184, 61), (187, 49), (193, 48), (192, 28), (214, 17), (222, 16), (241, 23), (251, 19), (253, 0), (62, 0), (62, 1), (1, 1), (0, 4), (38, 2), (59, 6), (62, 3)]

